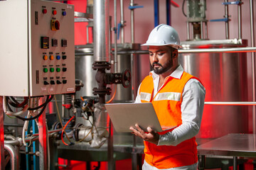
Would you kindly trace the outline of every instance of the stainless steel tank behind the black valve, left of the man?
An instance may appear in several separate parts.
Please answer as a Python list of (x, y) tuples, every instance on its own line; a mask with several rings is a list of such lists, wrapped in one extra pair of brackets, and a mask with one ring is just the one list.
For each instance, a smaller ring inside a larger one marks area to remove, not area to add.
[[(117, 50), (125, 52), (126, 50), (132, 50), (134, 45), (123, 44), (118, 45), (117, 47)], [(117, 55), (117, 61), (117, 72), (123, 72), (124, 69), (132, 69), (131, 55)], [(76, 93), (76, 98), (80, 98), (80, 96), (95, 96), (92, 94), (92, 89), (97, 87), (97, 82), (95, 80), (96, 71), (92, 69), (93, 62), (92, 45), (78, 45), (75, 47), (75, 79), (82, 80), (84, 84), (80, 91)], [(110, 70), (107, 72), (110, 72)], [(114, 85), (112, 85), (111, 88), (112, 94), (114, 94)], [(107, 99), (110, 99), (111, 96), (112, 95), (107, 96)], [(117, 93), (114, 97), (114, 101), (132, 101), (132, 86), (124, 88), (122, 84), (117, 84)]]

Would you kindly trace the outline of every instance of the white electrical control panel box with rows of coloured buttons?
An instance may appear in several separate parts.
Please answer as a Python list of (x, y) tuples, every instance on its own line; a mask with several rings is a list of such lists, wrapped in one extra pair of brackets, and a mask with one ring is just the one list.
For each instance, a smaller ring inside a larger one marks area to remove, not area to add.
[(0, 1), (0, 96), (75, 92), (74, 6)]

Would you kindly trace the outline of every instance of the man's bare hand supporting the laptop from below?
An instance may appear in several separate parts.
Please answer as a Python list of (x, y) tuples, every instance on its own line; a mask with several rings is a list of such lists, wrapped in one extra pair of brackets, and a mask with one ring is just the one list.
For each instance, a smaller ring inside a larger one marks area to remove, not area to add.
[(144, 132), (144, 130), (142, 130), (142, 128), (139, 127), (139, 125), (135, 125), (135, 128), (130, 127), (129, 129), (132, 130), (132, 132), (134, 133), (134, 135), (137, 135), (138, 137), (141, 137), (142, 140), (154, 143), (155, 145), (158, 145), (159, 142), (159, 134), (153, 130), (152, 128), (148, 127), (148, 133)]

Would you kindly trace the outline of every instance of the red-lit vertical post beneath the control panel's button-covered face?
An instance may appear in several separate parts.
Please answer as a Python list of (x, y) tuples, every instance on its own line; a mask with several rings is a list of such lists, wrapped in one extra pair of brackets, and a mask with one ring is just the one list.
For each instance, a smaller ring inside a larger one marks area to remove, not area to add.
[[(41, 105), (42, 98), (39, 101)], [(38, 133), (39, 133), (39, 167), (40, 169), (47, 169), (47, 136), (46, 136), (46, 111), (38, 118)]]

